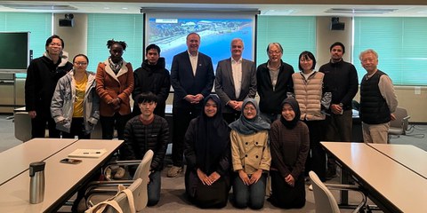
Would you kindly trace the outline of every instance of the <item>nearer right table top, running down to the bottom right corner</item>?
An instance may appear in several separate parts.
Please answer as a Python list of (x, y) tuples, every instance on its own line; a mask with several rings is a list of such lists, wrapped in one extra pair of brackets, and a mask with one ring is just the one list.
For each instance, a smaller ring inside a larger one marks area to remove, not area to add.
[[(344, 170), (356, 177), (367, 196), (384, 212), (427, 209), (427, 180), (404, 165), (412, 167), (410, 162), (399, 162), (399, 157), (394, 159), (365, 143), (321, 142), (321, 145)], [(427, 159), (418, 161), (427, 162)]]

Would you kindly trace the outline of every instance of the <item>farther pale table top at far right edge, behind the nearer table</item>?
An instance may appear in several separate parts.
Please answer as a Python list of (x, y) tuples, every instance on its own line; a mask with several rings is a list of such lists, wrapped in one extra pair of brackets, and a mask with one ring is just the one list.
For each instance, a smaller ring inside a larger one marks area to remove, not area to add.
[[(427, 152), (412, 145), (367, 144), (427, 179)], [(427, 189), (426, 189), (427, 190)]]

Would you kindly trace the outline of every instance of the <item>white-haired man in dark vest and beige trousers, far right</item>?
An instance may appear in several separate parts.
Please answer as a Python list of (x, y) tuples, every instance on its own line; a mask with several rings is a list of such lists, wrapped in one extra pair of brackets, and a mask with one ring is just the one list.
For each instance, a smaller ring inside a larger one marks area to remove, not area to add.
[(387, 144), (390, 121), (398, 99), (389, 75), (377, 68), (378, 54), (368, 49), (359, 55), (362, 67), (367, 70), (360, 83), (360, 119), (365, 143)]

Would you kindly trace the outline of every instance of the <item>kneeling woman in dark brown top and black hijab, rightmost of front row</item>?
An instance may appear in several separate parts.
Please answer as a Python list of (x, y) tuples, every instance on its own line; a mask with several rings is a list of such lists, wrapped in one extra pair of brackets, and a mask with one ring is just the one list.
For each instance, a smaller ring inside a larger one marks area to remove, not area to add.
[(296, 99), (282, 102), (280, 119), (271, 124), (271, 196), (279, 208), (302, 208), (305, 205), (304, 166), (309, 153), (309, 128), (300, 121)]

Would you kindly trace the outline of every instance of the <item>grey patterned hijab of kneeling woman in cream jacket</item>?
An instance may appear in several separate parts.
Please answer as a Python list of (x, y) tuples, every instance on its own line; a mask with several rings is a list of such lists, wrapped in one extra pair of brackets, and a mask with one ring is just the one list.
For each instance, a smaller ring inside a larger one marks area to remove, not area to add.
[[(253, 119), (247, 119), (243, 114), (243, 109), (251, 103), (256, 109), (256, 116)], [(242, 114), (236, 122), (230, 123), (231, 130), (236, 130), (240, 134), (250, 135), (261, 130), (270, 130), (270, 123), (264, 121), (260, 116), (260, 108), (255, 99), (245, 99), (242, 104)]]

